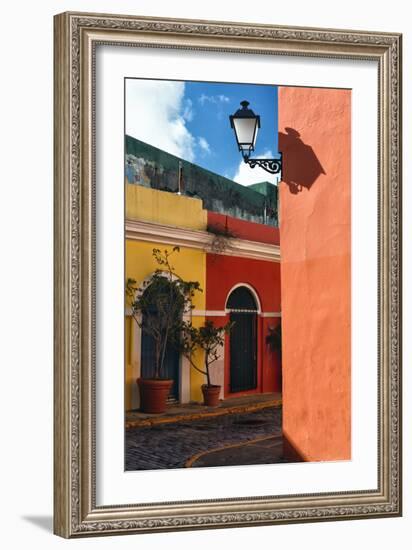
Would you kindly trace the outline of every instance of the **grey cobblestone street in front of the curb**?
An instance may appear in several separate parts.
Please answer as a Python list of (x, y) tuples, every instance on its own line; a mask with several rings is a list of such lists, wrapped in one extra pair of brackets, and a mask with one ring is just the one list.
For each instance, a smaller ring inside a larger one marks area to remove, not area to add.
[[(254, 440), (268, 440), (264, 457), (252, 462), (240, 458), (232, 464), (280, 462), (279, 453), (271, 455), (273, 443), (269, 440), (281, 436), (281, 408), (271, 407), (243, 414), (227, 414), (217, 418), (188, 420), (173, 424), (159, 424), (126, 430), (126, 470), (155, 470), (196, 466), (194, 458), (207, 452), (208, 460), (200, 465), (225, 465), (222, 451), (216, 453), (214, 462), (212, 450), (222, 447), (247, 444)], [(249, 445), (248, 445), (249, 447)], [(264, 445), (261, 446), (262, 453)], [(243, 453), (238, 453), (244, 457)], [(251, 448), (251, 447), (250, 447)], [(260, 451), (254, 449), (254, 455)], [(220, 456), (218, 457), (218, 455)], [(233, 452), (231, 453), (234, 454)], [(273, 459), (272, 459), (273, 456)], [(244, 462), (242, 462), (244, 460)]]

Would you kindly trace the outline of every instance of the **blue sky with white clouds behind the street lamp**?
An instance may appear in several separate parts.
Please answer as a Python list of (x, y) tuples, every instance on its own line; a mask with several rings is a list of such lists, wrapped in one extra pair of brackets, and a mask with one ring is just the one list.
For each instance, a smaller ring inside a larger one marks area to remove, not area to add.
[(276, 86), (126, 79), (126, 133), (243, 185), (275, 181), (237, 149), (229, 115), (243, 100), (261, 117), (254, 156), (276, 156)]

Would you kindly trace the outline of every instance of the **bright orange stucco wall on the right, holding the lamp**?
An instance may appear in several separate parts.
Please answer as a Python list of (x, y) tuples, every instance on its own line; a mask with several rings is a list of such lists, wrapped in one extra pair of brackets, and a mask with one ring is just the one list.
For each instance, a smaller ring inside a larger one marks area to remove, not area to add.
[(283, 429), (302, 460), (351, 457), (350, 90), (279, 88)]

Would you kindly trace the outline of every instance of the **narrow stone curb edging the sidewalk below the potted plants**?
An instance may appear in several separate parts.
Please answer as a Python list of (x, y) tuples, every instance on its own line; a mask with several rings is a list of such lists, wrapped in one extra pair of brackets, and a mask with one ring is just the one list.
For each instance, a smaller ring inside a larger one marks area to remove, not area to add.
[(142, 420), (128, 420), (126, 421), (126, 430), (133, 428), (143, 428), (147, 426), (155, 426), (159, 424), (173, 424), (176, 422), (202, 420), (203, 418), (213, 418), (217, 416), (225, 416), (228, 414), (242, 414), (248, 412), (254, 412), (261, 409), (268, 409), (270, 407), (281, 407), (282, 399), (276, 399), (273, 401), (266, 401), (263, 403), (253, 403), (251, 405), (238, 405), (234, 407), (225, 407), (215, 411), (202, 411), (193, 412), (188, 414), (177, 414), (175, 416), (159, 416), (154, 418), (144, 418)]

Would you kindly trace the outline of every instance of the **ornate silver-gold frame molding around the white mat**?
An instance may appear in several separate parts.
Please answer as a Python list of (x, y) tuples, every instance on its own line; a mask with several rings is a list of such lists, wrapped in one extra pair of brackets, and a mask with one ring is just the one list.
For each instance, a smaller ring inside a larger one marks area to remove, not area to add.
[[(86, 13), (63, 13), (54, 23), (54, 532), (79, 537), (401, 515), (401, 35)], [(378, 63), (377, 490), (96, 506), (98, 44)]]

